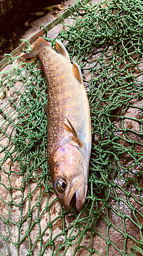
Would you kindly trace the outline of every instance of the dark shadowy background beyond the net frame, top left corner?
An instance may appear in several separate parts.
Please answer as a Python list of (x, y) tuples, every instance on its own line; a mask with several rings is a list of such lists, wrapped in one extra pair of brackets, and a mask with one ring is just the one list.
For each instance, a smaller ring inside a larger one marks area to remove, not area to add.
[(18, 46), (21, 35), (31, 27), (25, 26), (25, 23), (27, 21), (31, 23), (41, 17), (31, 16), (30, 13), (40, 12), (44, 7), (61, 2), (61, 0), (1, 0), (0, 61), (4, 53), (11, 53)]

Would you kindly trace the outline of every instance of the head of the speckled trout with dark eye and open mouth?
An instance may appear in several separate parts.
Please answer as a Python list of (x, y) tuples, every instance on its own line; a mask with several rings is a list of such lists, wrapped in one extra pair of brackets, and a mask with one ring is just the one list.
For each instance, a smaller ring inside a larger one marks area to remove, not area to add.
[(56, 196), (67, 209), (76, 201), (79, 210), (85, 201), (88, 183), (85, 168), (81, 152), (72, 145), (59, 147), (53, 157), (50, 168), (52, 184)]

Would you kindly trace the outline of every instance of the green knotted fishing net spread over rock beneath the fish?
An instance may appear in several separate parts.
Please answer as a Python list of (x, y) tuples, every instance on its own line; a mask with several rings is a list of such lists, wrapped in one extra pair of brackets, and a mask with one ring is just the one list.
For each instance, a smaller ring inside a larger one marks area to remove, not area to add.
[(87, 198), (77, 211), (55, 197), (45, 78), (38, 61), (11, 57), (1, 73), (0, 255), (143, 255), (143, 2), (69, 9), (74, 23), (57, 38), (79, 63), (90, 103)]

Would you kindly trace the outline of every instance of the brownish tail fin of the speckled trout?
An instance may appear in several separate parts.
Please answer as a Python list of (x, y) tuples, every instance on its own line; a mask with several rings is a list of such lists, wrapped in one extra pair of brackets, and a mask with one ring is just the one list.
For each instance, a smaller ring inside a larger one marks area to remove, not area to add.
[(43, 37), (39, 37), (34, 44), (34, 49), (30, 53), (24, 54), (22, 58), (38, 57), (41, 48), (47, 46), (50, 47), (49, 43)]

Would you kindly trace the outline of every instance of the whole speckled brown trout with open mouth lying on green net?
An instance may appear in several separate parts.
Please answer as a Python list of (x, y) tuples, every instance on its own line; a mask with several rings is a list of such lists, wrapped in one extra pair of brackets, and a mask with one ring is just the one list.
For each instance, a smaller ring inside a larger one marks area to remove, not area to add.
[(22, 57), (37, 57), (44, 72), (47, 91), (47, 158), (54, 192), (61, 204), (77, 210), (88, 190), (91, 155), (91, 117), (87, 92), (79, 65), (71, 63), (60, 40), (56, 51), (42, 37)]

